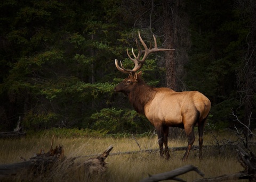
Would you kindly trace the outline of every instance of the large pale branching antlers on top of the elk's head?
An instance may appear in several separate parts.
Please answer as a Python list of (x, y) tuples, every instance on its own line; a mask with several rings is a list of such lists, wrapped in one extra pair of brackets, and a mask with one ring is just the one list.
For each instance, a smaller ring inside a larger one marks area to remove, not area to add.
[[(146, 58), (148, 57), (148, 55), (150, 53), (154, 53), (154, 52), (157, 52), (157, 51), (166, 51), (166, 50), (175, 50), (175, 49), (158, 49), (157, 48), (157, 43), (156, 43), (156, 37), (154, 36), (153, 34), (153, 37), (154, 37), (154, 42), (155, 42), (155, 47), (152, 48), (151, 47), (151, 44), (150, 44), (150, 47), (148, 48), (147, 45), (145, 44), (145, 42), (142, 40), (141, 36), (140, 36), (140, 31), (139, 31), (139, 39), (140, 39), (140, 42), (141, 44), (143, 45), (144, 49), (145, 50), (141, 50), (140, 48), (140, 44), (139, 42), (137, 41), (137, 39), (135, 40), (136, 41), (136, 45), (137, 45), (137, 48), (138, 48), (138, 56), (136, 56), (134, 54), (134, 51), (133, 51), (133, 48), (132, 48), (132, 54), (134, 56), (134, 59), (130, 56), (129, 52), (128, 52), (128, 49), (127, 49), (127, 55), (128, 57), (133, 61), (133, 63), (135, 64), (134, 68), (132, 70), (128, 70), (128, 69), (125, 69), (122, 65), (122, 62), (120, 62), (121, 64), (121, 67), (118, 65), (118, 60), (116, 59), (115, 60), (115, 64), (116, 64), (116, 68), (117, 70), (123, 72), (123, 73), (129, 73), (131, 75), (134, 75), (135, 72), (137, 72), (138, 70), (140, 70), (140, 68), (143, 66)], [(140, 59), (140, 57), (142, 56), (142, 54), (144, 53), (144, 56), (142, 59)]]

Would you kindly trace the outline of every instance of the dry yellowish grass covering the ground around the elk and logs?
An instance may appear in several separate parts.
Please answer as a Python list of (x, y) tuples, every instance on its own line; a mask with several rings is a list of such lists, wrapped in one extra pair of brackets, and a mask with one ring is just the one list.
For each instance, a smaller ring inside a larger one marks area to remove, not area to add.
[[(236, 136), (230, 133), (215, 134), (217, 140), (235, 141)], [(142, 150), (158, 149), (156, 135), (148, 137), (136, 138)], [(195, 145), (198, 145), (197, 138)], [(204, 137), (204, 145), (215, 144), (216, 140), (212, 134), (206, 134)], [(33, 157), (40, 149), (48, 151), (50, 149), (51, 137), (27, 137), (16, 140), (0, 140), (0, 163), (20, 162), (19, 157), (29, 159)], [(86, 160), (89, 157), (84, 157), (90, 154), (100, 154), (105, 151), (108, 146), (113, 145), (113, 150), (110, 153), (138, 151), (139, 146), (132, 137), (80, 137), (80, 138), (65, 138), (56, 137), (55, 145), (62, 145), (65, 150), (65, 155), (69, 157), (82, 156), (77, 160)], [(187, 140), (169, 141), (170, 147), (186, 146)], [(220, 176), (223, 174), (233, 174), (243, 170), (237, 161), (236, 151), (228, 150), (203, 150), (203, 159), (198, 160), (198, 151), (191, 151), (186, 162), (182, 162), (181, 158), (185, 151), (170, 152), (171, 159), (166, 161), (159, 157), (159, 153), (136, 153), (136, 154), (121, 154), (109, 155), (106, 159), (108, 169), (102, 176), (94, 176), (90, 180), (86, 178), (83, 171), (70, 171), (68, 164), (63, 163), (61, 169), (52, 171), (47, 176), (42, 176), (40, 179), (28, 179), (28, 181), (139, 181), (148, 175), (154, 175), (166, 171), (173, 170), (192, 164), (201, 170), (205, 177)], [(255, 151), (254, 151), (255, 152)], [(202, 178), (196, 172), (190, 171), (185, 175), (180, 176), (186, 181)], [(19, 181), (19, 178), (17, 178)]]

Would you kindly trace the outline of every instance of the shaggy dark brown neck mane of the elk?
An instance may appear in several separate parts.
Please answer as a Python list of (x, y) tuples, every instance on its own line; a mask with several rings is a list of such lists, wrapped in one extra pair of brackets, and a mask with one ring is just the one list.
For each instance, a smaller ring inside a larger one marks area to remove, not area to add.
[(149, 86), (145, 81), (138, 77), (138, 82), (129, 93), (129, 101), (133, 108), (145, 115), (145, 105), (155, 97), (156, 91), (153, 86)]

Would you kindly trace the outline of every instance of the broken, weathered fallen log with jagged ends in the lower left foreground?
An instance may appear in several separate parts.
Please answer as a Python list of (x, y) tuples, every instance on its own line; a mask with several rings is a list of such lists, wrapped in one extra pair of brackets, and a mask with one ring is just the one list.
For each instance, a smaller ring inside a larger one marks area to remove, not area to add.
[[(96, 158), (87, 159), (83, 162), (74, 162), (78, 157), (66, 158), (64, 156), (64, 150), (62, 146), (53, 146), (53, 139), (49, 152), (41, 150), (35, 154), (34, 157), (29, 160), (21, 159), (23, 162), (0, 164), (0, 181), (12, 180), (19, 178), (21, 180), (28, 180), (28, 177), (37, 178), (38, 176), (44, 175), (54, 169), (59, 169), (63, 166), (70, 168), (70, 170), (76, 170), (83, 168), (84, 174), (95, 175), (102, 174), (106, 170), (105, 159), (108, 157), (109, 152), (113, 149), (113, 146), (104, 151), (101, 155)], [(65, 165), (63, 165), (65, 164)]]

